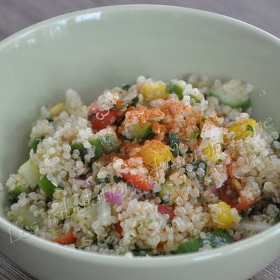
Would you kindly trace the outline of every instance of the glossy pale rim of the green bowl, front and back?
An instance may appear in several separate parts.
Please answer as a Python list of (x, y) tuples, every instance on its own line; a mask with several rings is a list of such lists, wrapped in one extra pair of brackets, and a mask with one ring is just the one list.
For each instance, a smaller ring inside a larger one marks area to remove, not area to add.
[[(186, 15), (192, 14), (201, 17), (211, 18), (212, 20), (217, 20), (219, 22), (227, 22), (230, 25), (235, 25), (236, 27), (250, 30), (254, 32), (256, 36), (260, 36), (265, 38), (269, 43), (277, 45), (280, 47), (280, 39), (276, 36), (269, 34), (267, 31), (260, 29), (259, 27), (255, 27), (241, 20), (237, 20), (235, 18), (230, 18), (225, 15), (220, 15), (218, 13), (212, 13), (206, 10), (198, 10), (193, 8), (185, 8), (181, 6), (167, 6), (167, 5), (150, 5), (150, 4), (133, 4), (133, 5), (116, 5), (116, 6), (103, 6), (96, 8), (89, 8), (85, 10), (78, 10), (72, 13), (65, 13), (63, 15), (58, 15), (54, 18), (50, 18), (48, 20), (43, 20), (42, 22), (38, 22), (35, 25), (31, 25), (25, 29), (17, 31), (15, 34), (4, 38), (0, 41), (0, 50), (8, 46), (10, 43), (13, 43), (15, 39), (24, 38), (31, 32), (37, 31), (38, 29), (42, 29), (43, 27), (48, 27), (51, 24), (59, 22), (59, 20), (71, 20), (78, 15), (86, 15), (88, 13), (118, 13), (126, 10), (137, 10), (138, 12), (166, 12), (173, 11), (176, 13), (184, 13)], [(253, 237), (249, 237), (248, 239), (244, 239), (241, 241), (237, 241), (233, 244), (223, 246), (221, 248), (215, 248), (210, 251), (202, 251), (197, 253), (188, 253), (183, 255), (160, 255), (153, 258), (146, 257), (137, 257), (137, 258), (127, 258), (125, 256), (119, 255), (102, 255), (99, 253), (87, 252), (78, 249), (70, 248), (69, 246), (62, 246), (59, 244), (55, 244), (46, 239), (36, 237), (34, 235), (27, 235), (25, 230), (18, 228), (17, 226), (10, 223), (6, 218), (0, 216), (0, 229), (6, 234), (10, 235), (11, 232), (15, 237), (22, 237), (20, 242), (25, 242), (28, 246), (36, 247), (38, 250), (47, 251), (48, 253), (52, 253), (57, 256), (61, 256), (64, 258), (71, 258), (79, 260), (83, 260), (83, 262), (88, 263), (98, 263), (105, 264), (107, 261), (110, 261), (110, 265), (115, 266), (124, 266), (125, 267), (165, 267), (167, 262), (172, 266), (186, 265), (195, 263), (197, 261), (204, 261), (209, 258), (219, 258), (221, 256), (226, 257), (231, 255), (232, 253), (241, 253), (246, 251), (248, 248), (253, 246), (258, 246), (260, 244), (265, 243), (269, 239), (279, 238), (280, 237), (280, 223), (272, 226), (265, 230), (264, 232), (260, 232), (258, 235)], [(26, 237), (26, 238), (25, 238)], [(27, 238), (28, 237), (28, 238)]]

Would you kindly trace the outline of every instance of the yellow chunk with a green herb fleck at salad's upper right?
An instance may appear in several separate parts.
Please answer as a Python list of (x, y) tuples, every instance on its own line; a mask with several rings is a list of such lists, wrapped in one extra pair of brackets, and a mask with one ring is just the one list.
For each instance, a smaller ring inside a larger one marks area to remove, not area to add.
[(233, 139), (240, 140), (246, 137), (252, 137), (255, 131), (255, 120), (253, 118), (248, 118), (240, 123), (233, 123), (228, 127), (228, 132), (235, 132)]

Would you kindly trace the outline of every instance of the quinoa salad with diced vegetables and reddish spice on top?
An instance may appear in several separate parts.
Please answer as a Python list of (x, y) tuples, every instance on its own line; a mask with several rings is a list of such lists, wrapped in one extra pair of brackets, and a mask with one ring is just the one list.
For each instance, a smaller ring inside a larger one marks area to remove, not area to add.
[(4, 185), (9, 221), (113, 255), (216, 248), (279, 221), (280, 139), (251, 116), (253, 86), (192, 74), (77, 92), (43, 107)]

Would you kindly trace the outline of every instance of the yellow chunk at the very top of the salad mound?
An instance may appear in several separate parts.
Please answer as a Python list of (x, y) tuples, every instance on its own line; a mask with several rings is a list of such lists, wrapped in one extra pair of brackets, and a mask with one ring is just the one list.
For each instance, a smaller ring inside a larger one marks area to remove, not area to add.
[(161, 81), (144, 83), (140, 89), (141, 94), (147, 101), (155, 99), (167, 99), (169, 93), (167, 92), (167, 86)]

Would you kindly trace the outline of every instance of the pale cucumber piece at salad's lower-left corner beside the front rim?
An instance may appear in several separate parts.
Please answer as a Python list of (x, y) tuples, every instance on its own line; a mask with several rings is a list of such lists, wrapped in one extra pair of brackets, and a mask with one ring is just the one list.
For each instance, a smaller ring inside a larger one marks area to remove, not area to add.
[(34, 217), (34, 215), (29, 211), (30, 205), (25, 207), (18, 207), (16, 210), (10, 210), (7, 213), (7, 218), (10, 221), (17, 221), (18, 217), (22, 218), (22, 225), (27, 228), (27, 230), (33, 230), (37, 225), (40, 225), (43, 220), (41, 216)]

